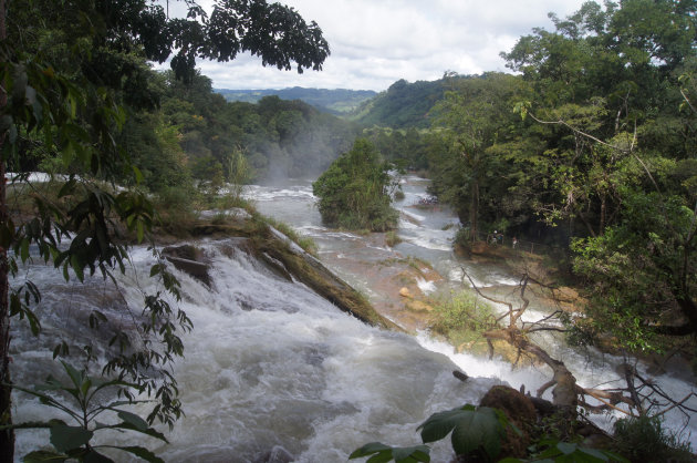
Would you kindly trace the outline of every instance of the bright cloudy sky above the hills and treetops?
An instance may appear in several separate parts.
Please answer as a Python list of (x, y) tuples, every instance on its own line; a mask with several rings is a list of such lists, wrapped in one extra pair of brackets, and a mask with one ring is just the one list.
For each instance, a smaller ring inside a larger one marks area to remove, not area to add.
[[(202, 0), (200, 4), (210, 4)], [(323, 70), (279, 71), (257, 58), (199, 61), (217, 89), (386, 90), (399, 79), (436, 80), (445, 71), (507, 71), (501, 51), (543, 27), (547, 13), (573, 13), (584, 0), (280, 0), (318, 22), (331, 55)]]

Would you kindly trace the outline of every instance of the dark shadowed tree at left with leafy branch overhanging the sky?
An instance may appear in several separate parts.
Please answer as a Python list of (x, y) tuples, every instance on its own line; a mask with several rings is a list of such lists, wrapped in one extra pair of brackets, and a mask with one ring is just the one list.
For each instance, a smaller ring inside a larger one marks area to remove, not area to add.
[[(229, 61), (240, 51), (262, 58), (264, 65), (299, 72), (320, 70), (329, 48), (315, 23), (306, 24), (294, 10), (278, 3), (216, 1), (207, 16), (187, 1), (186, 19), (168, 18), (162, 6), (146, 0), (0, 0), (0, 174), (23, 172), (31, 156), (52, 157), (74, 168), (58, 198), (35, 191), (33, 209), (11, 215), (8, 186), (0, 186), (0, 460), (13, 460), (10, 407), (10, 317), (40, 320), (31, 303), (40, 290), (31, 281), (10, 288), (20, 261), (37, 246), (39, 258), (62, 268), (65, 278), (83, 280), (85, 272), (105, 278), (125, 271), (127, 247), (113, 232), (132, 230), (142, 240), (153, 224), (153, 207), (137, 191), (115, 193), (95, 179), (142, 179), (118, 133), (132, 115), (154, 109), (158, 92), (148, 83), (146, 60), (171, 58), (176, 74), (190, 82), (197, 58)], [(241, 25), (242, 24), (242, 25)], [(27, 179), (20, 175), (18, 179)], [(30, 186), (31, 187), (31, 186)], [(67, 248), (60, 246), (69, 240)], [(178, 297), (177, 282), (156, 265), (164, 290)], [(105, 374), (128, 378), (142, 392), (156, 395), (150, 416), (171, 424), (180, 413), (176, 381), (167, 366), (183, 353), (178, 332), (190, 329), (180, 310), (160, 292), (145, 295), (144, 349), (121, 346), (104, 367)], [(95, 311), (91, 320), (102, 320)], [(149, 320), (149, 321), (148, 321)], [(65, 353), (66, 343), (55, 353)], [(162, 373), (156, 382), (150, 371)], [(93, 455), (94, 456), (94, 455)]]

